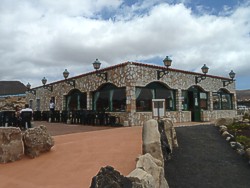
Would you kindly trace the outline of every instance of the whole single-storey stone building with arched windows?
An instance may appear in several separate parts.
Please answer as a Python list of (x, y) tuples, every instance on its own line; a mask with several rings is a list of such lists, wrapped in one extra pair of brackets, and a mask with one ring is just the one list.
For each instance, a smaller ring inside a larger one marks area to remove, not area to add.
[(236, 115), (233, 78), (125, 62), (33, 88), (27, 102), (34, 111), (102, 111), (123, 125), (142, 125), (152, 116), (173, 122), (212, 121)]

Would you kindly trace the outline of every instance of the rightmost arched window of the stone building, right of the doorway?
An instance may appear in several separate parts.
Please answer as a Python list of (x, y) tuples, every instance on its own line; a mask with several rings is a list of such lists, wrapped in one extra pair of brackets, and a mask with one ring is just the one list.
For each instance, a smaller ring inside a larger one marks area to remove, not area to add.
[(224, 89), (213, 93), (214, 110), (232, 110), (232, 94)]

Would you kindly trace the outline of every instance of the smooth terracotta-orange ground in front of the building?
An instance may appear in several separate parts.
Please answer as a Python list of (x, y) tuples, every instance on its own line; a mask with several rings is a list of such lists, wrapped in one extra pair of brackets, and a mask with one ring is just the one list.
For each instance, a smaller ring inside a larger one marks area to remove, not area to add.
[(142, 127), (90, 129), (53, 136), (52, 150), (35, 159), (0, 164), (0, 188), (87, 188), (107, 165), (129, 174), (142, 151)]

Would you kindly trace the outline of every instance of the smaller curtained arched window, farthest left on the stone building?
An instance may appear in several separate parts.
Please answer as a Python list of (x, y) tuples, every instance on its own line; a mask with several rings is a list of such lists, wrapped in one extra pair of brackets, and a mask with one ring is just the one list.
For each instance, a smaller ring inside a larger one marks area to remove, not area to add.
[(66, 96), (66, 110), (82, 109), (87, 109), (87, 94), (74, 89)]

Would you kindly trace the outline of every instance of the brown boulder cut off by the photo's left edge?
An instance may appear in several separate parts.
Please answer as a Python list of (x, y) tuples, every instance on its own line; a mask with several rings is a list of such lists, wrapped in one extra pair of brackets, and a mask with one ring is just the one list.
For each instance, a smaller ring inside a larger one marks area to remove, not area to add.
[(0, 163), (14, 162), (23, 156), (21, 130), (15, 127), (0, 127)]

